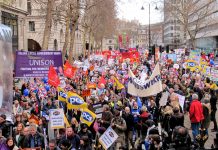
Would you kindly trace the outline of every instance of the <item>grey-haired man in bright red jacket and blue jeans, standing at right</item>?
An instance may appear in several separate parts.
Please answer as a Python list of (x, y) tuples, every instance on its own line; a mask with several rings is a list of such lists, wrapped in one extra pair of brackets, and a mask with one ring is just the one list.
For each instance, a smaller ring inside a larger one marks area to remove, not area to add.
[(189, 117), (191, 120), (193, 138), (195, 139), (196, 136), (199, 134), (200, 123), (204, 119), (203, 108), (198, 100), (197, 94), (192, 95), (192, 102), (189, 109)]

